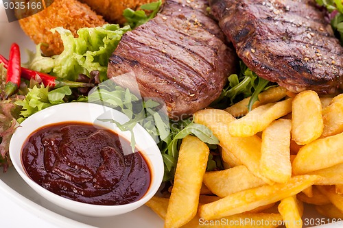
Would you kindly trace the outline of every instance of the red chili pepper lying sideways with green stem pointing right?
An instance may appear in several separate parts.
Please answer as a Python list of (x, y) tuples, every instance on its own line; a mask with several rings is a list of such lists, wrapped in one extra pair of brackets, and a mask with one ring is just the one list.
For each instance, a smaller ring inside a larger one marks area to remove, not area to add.
[[(5, 68), (8, 68), (8, 60), (0, 55), (0, 63), (3, 63)], [(38, 80), (38, 77), (42, 80), (44, 86), (49, 86), (50, 88), (58, 88), (62, 86), (69, 86), (70, 88), (80, 88), (80, 87), (93, 87), (94, 84), (83, 83), (83, 82), (75, 82), (75, 81), (68, 81), (68, 80), (58, 80), (57, 77), (48, 75), (46, 73), (41, 73), (38, 71), (32, 71), (30, 69), (21, 68), (21, 77), (30, 80)]]

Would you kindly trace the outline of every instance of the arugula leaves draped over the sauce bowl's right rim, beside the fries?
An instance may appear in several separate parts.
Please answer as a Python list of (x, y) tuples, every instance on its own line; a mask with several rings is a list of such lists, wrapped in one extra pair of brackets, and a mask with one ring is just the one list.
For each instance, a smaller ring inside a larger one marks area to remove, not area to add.
[[(160, 103), (152, 99), (147, 99), (146, 101), (139, 99), (130, 93), (129, 90), (116, 86), (110, 80), (104, 81), (96, 88), (93, 88), (88, 94), (88, 101), (113, 107), (130, 118), (130, 121), (123, 124), (117, 123), (113, 119), (102, 119), (100, 121), (109, 121), (110, 123), (115, 123), (121, 131), (130, 131), (132, 151), (134, 151), (135, 147), (134, 126), (139, 124), (147, 130), (154, 138), (163, 155), (165, 165), (164, 181), (174, 178), (178, 149), (182, 138), (193, 134), (208, 144), (219, 143), (219, 140), (206, 126), (193, 123), (191, 118), (178, 122), (169, 121), (167, 111), (161, 108)], [(217, 162), (212, 160), (209, 162), (209, 166), (211, 166), (209, 169), (213, 170), (217, 168)]]

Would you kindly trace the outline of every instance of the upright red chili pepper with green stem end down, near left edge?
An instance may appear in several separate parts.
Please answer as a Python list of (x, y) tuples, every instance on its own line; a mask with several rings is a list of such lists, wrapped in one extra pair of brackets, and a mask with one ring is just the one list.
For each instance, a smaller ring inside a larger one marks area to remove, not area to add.
[(21, 84), (21, 52), (19, 45), (13, 43), (8, 61), (7, 79), (5, 84), (5, 99), (12, 96)]

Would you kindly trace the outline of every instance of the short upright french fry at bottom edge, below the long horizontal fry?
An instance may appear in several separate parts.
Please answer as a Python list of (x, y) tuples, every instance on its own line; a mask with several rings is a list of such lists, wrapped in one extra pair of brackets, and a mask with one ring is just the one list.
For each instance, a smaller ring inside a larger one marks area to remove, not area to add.
[[(299, 203), (302, 204), (301, 201)], [(298, 205), (296, 195), (281, 199), (278, 209), (285, 221), (286, 228), (303, 227), (303, 220), (301, 219), (303, 212)]]

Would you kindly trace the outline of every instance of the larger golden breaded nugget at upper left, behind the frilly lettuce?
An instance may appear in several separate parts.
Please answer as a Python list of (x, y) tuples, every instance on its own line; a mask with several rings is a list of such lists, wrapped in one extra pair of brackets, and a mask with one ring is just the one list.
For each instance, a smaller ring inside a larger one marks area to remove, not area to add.
[[(25, 12), (19, 13), (25, 14)], [(45, 10), (23, 18), (19, 23), (27, 36), (36, 44), (40, 42), (47, 44), (42, 45), (41, 49), (45, 55), (51, 56), (62, 53), (64, 47), (60, 34), (57, 32), (53, 34), (50, 29), (64, 27), (77, 36), (78, 29), (102, 26), (105, 21), (84, 3), (76, 0), (55, 0)]]

